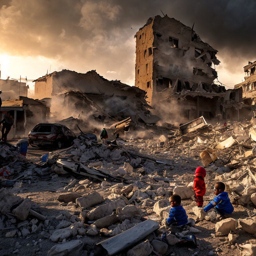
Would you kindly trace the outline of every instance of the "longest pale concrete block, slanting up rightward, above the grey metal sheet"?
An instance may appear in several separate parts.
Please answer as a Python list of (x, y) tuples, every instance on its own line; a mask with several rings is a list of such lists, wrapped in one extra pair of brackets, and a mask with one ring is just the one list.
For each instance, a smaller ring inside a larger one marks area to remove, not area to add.
[(117, 199), (111, 203), (100, 205), (90, 212), (87, 213), (87, 218), (89, 220), (97, 220), (103, 218), (107, 215), (111, 215), (117, 207), (124, 207), (126, 203), (123, 199)]

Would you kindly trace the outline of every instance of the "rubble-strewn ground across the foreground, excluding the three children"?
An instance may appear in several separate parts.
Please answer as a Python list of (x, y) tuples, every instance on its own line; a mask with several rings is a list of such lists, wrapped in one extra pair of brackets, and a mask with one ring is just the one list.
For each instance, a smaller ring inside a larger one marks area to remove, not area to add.
[[(45, 162), (0, 142), (7, 178), (0, 189), (0, 254), (255, 255), (256, 124), (194, 121), (116, 145), (81, 133)], [(204, 206), (222, 181), (232, 214), (218, 220), (192, 201), (198, 166), (206, 169)], [(165, 225), (172, 194), (181, 196), (188, 215), (184, 227)]]

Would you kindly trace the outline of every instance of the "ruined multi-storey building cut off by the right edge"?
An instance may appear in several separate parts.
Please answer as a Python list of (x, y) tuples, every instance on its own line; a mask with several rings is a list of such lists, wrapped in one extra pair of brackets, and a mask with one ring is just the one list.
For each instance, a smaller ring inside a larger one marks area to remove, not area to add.
[(236, 84), (235, 89), (240, 89), (243, 93), (243, 101), (246, 105), (255, 105), (256, 103), (256, 61), (244, 66), (245, 81)]

